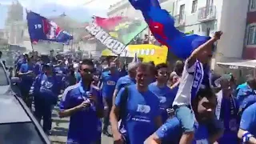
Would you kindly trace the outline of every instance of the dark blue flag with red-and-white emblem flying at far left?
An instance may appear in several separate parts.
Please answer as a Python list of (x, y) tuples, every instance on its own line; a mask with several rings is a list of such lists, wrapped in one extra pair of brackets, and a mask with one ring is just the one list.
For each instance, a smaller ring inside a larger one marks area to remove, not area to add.
[(26, 20), (31, 42), (42, 40), (68, 44), (73, 39), (71, 34), (40, 14), (27, 11)]

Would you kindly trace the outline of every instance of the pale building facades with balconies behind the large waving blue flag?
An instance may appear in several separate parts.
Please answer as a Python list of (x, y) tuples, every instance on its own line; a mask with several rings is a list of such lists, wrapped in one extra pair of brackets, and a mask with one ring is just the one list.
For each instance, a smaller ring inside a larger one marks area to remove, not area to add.
[[(217, 44), (215, 62), (256, 58), (256, 0), (160, 0), (178, 30), (189, 34), (223, 35)], [(127, 0), (110, 6), (108, 15), (138, 16)], [(130, 10), (130, 11), (129, 11)]]

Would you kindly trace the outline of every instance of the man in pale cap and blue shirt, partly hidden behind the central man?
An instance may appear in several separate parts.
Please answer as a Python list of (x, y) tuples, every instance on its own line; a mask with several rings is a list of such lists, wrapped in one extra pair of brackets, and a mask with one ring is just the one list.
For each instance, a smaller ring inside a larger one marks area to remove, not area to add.
[(113, 103), (115, 102), (115, 97), (117, 96), (118, 91), (121, 90), (122, 87), (135, 84), (137, 66), (138, 66), (137, 62), (130, 62), (129, 65), (127, 66), (128, 75), (118, 79), (118, 82), (114, 89)]

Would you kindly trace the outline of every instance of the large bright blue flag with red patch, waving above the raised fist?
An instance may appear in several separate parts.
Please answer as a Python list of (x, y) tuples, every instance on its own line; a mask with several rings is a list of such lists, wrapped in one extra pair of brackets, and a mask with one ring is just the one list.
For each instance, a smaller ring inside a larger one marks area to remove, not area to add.
[(154, 38), (168, 47), (178, 58), (186, 59), (192, 51), (210, 37), (184, 34), (174, 27), (174, 18), (162, 10), (158, 0), (129, 0), (136, 10), (141, 10)]

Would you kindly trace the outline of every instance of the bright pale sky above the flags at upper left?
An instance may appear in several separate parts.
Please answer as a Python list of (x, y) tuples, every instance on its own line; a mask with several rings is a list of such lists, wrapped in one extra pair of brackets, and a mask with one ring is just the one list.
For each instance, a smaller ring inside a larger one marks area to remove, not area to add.
[[(17, 0), (0, 0), (0, 28), (4, 26), (7, 6), (15, 1)], [(26, 9), (33, 10), (46, 18), (65, 12), (70, 18), (79, 22), (88, 21), (92, 15), (106, 17), (110, 5), (119, 1), (121, 0), (18, 0)]]

